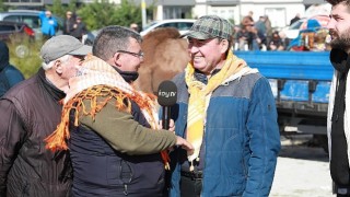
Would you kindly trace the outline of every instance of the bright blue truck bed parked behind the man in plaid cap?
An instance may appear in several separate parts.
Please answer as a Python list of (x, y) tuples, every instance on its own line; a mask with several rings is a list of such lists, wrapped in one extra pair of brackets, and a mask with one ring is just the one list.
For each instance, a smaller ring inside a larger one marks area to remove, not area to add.
[(234, 51), (269, 79), (283, 135), (312, 134), (328, 151), (329, 51)]

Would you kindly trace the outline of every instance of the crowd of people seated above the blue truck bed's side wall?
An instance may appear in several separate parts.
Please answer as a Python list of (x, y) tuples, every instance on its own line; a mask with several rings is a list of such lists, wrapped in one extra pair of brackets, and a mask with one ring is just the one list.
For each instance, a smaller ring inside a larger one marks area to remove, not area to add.
[[(291, 20), (291, 24), (300, 20), (300, 14)], [(249, 14), (241, 24), (234, 26), (234, 50), (330, 50), (327, 28), (323, 28), (316, 20), (308, 20), (306, 30), (301, 30), (296, 38), (290, 39), (282, 31), (271, 27), (268, 15), (254, 21)], [(310, 23), (313, 23), (310, 25)]]

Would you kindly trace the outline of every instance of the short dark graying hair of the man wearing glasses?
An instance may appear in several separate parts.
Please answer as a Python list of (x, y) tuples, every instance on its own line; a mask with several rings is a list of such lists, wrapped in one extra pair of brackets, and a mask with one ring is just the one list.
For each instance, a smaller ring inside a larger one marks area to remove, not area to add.
[(127, 50), (130, 38), (135, 38), (138, 43), (142, 43), (139, 33), (122, 26), (104, 27), (94, 40), (92, 54), (103, 60), (107, 60), (114, 56), (117, 50)]

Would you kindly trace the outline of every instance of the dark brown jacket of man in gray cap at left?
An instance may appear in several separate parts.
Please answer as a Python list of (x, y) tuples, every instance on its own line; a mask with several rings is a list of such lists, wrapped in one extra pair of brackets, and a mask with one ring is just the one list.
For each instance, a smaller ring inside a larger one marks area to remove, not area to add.
[(40, 69), (0, 99), (0, 196), (69, 196), (69, 155), (44, 142), (60, 121), (63, 97)]

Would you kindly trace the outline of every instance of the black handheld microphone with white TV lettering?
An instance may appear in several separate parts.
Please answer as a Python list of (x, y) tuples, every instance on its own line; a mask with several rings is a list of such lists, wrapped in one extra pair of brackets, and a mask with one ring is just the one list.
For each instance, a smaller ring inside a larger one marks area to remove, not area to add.
[(177, 100), (177, 86), (173, 81), (163, 81), (158, 88), (158, 103), (163, 107), (162, 126), (168, 129), (171, 119), (171, 106), (175, 105)]

